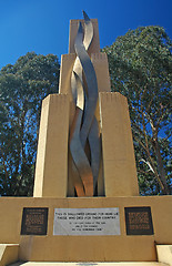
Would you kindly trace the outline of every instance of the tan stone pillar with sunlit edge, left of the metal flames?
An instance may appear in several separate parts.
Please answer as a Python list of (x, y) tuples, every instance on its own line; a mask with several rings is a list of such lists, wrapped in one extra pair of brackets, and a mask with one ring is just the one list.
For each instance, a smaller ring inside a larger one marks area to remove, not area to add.
[(69, 96), (50, 94), (42, 102), (34, 197), (65, 197), (68, 182)]

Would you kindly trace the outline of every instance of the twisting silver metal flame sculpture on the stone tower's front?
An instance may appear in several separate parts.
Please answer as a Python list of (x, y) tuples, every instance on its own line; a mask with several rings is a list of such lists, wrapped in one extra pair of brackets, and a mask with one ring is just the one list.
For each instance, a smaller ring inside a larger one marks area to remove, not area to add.
[(93, 39), (93, 25), (84, 11), (83, 17), (84, 29), (80, 22), (74, 41), (77, 58), (71, 75), (71, 89), (75, 114), (70, 129), (70, 151), (80, 178), (74, 184), (77, 195), (93, 196), (100, 165), (100, 136), (94, 115), (98, 83), (93, 64), (88, 54)]

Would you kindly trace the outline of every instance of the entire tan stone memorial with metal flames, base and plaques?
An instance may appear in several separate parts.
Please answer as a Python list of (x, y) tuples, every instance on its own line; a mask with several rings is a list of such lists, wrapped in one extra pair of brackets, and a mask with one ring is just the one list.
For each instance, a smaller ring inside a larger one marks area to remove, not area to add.
[(139, 196), (128, 101), (110, 92), (98, 20), (83, 18), (42, 102), (33, 197), (0, 198), (0, 265), (172, 256), (172, 197)]

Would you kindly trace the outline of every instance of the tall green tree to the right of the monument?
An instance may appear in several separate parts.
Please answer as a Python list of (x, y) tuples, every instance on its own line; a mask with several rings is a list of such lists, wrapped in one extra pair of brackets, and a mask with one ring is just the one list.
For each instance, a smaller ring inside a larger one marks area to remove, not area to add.
[(163, 28), (130, 30), (103, 49), (112, 91), (129, 101), (140, 193), (170, 194), (172, 43)]

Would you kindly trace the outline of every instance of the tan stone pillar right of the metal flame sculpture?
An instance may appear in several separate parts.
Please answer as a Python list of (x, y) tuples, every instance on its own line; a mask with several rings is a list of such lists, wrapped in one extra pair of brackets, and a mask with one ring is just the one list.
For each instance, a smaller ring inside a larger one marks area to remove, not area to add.
[(127, 98), (100, 93), (105, 196), (139, 195)]

